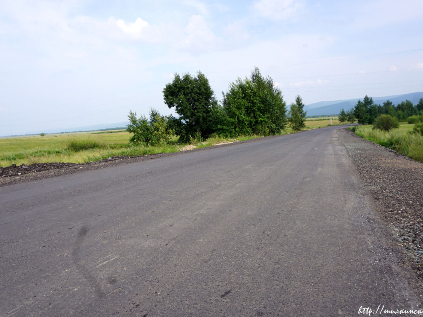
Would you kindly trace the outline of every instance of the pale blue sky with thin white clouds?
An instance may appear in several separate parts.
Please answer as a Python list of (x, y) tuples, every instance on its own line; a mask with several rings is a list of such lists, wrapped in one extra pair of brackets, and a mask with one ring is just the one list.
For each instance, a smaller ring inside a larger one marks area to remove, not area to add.
[(0, 46), (0, 135), (172, 113), (175, 72), (218, 99), (255, 66), (287, 104), (423, 91), (422, 0), (2, 0)]

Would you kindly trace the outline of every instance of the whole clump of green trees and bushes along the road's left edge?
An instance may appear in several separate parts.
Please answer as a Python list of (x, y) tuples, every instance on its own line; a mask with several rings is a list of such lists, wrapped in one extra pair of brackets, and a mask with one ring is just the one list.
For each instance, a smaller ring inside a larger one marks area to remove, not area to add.
[(222, 92), (219, 103), (207, 77), (175, 73), (171, 83), (163, 89), (164, 102), (179, 115), (163, 116), (151, 109), (149, 118), (129, 112), (127, 131), (133, 133), (131, 143), (166, 143), (171, 135), (182, 142), (202, 140), (212, 135), (234, 137), (281, 133), (287, 125), (294, 130), (305, 127), (306, 111), (302, 98), (297, 96), (287, 111), (282, 92), (274, 86), (270, 76), (264, 77), (258, 68), (249, 78), (238, 78)]

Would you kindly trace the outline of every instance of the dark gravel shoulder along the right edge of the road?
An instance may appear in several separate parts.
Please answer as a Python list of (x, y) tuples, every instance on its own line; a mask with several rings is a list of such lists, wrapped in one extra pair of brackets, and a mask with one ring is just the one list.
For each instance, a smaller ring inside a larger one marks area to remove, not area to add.
[(423, 163), (364, 140), (352, 131), (337, 133), (373, 195), (376, 208), (423, 282)]

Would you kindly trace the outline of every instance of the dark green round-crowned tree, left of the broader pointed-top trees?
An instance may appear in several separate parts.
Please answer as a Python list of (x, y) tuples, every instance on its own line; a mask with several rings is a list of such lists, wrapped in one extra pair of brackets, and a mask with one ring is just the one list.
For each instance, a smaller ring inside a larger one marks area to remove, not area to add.
[(182, 77), (175, 73), (172, 83), (163, 89), (165, 104), (175, 108), (179, 118), (171, 118), (175, 133), (182, 141), (195, 135), (207, 138), (212, 129), (211, 112), (217, 101), (209, 80), (200, 71), (197, 76), (186, 73)]

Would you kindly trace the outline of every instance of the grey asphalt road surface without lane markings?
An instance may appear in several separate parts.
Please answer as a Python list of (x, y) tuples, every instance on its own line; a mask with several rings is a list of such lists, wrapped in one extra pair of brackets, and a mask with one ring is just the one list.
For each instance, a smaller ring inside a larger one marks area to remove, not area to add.
[(0, 188), (0, 316), (415, 308), (337, 129)]

